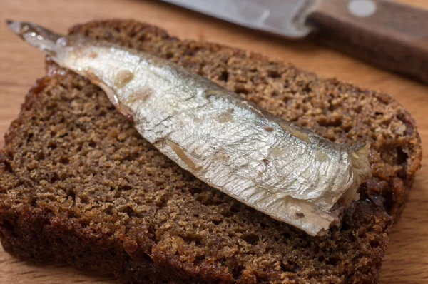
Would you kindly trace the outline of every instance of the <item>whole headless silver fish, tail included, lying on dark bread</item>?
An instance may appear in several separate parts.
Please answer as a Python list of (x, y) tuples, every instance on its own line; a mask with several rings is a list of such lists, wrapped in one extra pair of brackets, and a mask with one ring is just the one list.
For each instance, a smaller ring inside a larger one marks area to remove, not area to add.
[(181, 168), (276, 220), (324, 235), (370, 177), (369, 146), (333, 143), (151, 54), (41, 26), (12, 31), (100, 86)]

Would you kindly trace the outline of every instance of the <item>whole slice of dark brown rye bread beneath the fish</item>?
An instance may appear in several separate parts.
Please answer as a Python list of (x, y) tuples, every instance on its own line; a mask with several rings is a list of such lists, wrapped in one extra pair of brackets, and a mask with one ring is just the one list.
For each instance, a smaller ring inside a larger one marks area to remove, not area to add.
[[(0, 237), (24, 260), (129, 283), (373, 283), (420, 166), (414, 120), (383, 93), (136, 21), (75, 26), (175, 61), (337, 142), (371, 144), (373, 177), (340, 227), (310, 237), (198, 181), (85, 78), (47, 61), (0, 151)], [(293, 282), (294, 281), (294, 282)]]

